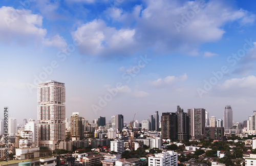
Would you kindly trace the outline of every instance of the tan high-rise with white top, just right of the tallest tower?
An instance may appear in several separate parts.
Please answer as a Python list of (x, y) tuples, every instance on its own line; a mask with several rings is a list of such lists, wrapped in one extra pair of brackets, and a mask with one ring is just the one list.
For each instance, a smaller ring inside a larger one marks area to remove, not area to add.
[(79, 116), (79, 112), (73, 112), (70, 117), (70, 129), (71, 137), (73, 140), (82, 140), (83, 139), (83, 124), (82, 117)]

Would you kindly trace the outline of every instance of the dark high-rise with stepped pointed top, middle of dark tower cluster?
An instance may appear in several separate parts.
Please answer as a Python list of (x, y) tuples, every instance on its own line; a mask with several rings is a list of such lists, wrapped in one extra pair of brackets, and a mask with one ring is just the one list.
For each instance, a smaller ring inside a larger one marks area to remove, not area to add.
[(189, 138), (189, 118), (180, 106), (177, 106), (177, 131), (178, 139), (186, 140)]

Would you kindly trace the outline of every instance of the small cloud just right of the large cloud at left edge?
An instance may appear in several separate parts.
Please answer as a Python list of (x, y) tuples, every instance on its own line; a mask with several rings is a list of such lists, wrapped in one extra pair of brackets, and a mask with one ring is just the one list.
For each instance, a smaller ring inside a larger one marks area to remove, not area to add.
[(57, 47), (59, 50), (67, 47), (66, 40), (63, 37), (59, 36), (59, 34), (53, 36), (51, 39), (47, 38), (45, 40), (45, 45)]

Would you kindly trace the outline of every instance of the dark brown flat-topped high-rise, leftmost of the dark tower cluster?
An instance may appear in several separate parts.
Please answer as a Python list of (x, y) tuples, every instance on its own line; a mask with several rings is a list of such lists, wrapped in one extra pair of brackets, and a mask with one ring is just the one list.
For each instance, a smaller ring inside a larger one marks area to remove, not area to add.
[(176, 113), (162, 113), (161, 116), (162, 125), (162, 138), (175, 140), (177, 136), (177, 115)]

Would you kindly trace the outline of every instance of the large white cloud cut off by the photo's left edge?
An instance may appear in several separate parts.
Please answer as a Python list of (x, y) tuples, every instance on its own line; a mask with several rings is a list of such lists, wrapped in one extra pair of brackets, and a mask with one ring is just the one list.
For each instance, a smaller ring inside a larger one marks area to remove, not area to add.
[(38, 43), (44, 40), (47, 30), (42, 28), (40, 15), (31, 14), (30, 10), (3, 6), (0, 16), (0, 42), (8, 44), (15, 40), (25, 45), (30, 41)]

